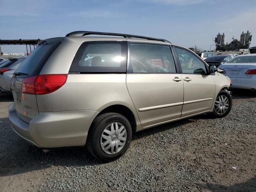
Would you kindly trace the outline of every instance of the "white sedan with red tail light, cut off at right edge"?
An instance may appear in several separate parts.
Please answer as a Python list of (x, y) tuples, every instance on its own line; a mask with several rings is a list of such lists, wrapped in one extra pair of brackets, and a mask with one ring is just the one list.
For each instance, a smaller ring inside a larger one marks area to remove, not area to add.
[(256, 54), (240, 55), (219, 66), (232, 81), (231, 88), (256, 90)]

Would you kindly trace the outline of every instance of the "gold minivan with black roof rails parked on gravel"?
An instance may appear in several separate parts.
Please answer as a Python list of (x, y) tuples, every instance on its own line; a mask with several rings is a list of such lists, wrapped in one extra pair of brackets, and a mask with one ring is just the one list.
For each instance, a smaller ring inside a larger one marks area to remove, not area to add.
[(86, 145), (104, 162), (122, 156), (134, 132), (204, 113), (221, 118), (232, 106), (230, 79), (216, 66), (167, 40), (128, 34), (43, 40), (11, 82), (18, 135), (41, 148)]

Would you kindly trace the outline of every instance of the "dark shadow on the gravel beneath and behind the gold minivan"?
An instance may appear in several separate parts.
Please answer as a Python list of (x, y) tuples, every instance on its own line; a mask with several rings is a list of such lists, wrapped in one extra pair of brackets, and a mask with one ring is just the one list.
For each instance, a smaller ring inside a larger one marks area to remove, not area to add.
[[(133, 134), (137, 140), (188, 124), (192, 120), (172, 122)], [(0, 130), (0, 176), (12, 176), (26, 172), (44, 170), (52, 166), (93, 166), (102, 164), (84, 147), (57, 148), (43, 152), (42, 148), (32, 146), (20, 138), (10, 127), (8, 118), (0, 118), (3, 129)]]

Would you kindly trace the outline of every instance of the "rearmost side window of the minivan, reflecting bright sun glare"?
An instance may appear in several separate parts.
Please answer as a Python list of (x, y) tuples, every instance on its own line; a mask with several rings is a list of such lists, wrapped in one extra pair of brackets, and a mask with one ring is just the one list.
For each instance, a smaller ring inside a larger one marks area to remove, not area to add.
[(84, 42), (70, 72), (126, 72), (127, 42)]

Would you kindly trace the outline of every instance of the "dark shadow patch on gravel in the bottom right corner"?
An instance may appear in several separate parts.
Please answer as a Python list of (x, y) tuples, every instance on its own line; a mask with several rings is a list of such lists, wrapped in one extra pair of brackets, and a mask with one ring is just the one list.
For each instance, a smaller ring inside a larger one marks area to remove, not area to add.
[(211, 192), (252, 192), (256, 191), (256, 177), (247, 180), (246, 182), (237, 183), (231, 186), (224, 186), (224, 185), (218, 185), (218, 184), (199, 184), (202, 186), (202, 188), (205, 188)]

